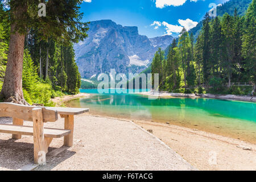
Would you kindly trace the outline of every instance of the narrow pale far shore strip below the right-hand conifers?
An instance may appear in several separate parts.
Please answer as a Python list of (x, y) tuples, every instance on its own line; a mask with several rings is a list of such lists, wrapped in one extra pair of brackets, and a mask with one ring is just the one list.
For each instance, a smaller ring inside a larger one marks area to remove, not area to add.
[(216, 98), (221, 100), (250, 101), (256, 102), (256, 97), (236, 96), (236, 95), (215, 95), (215, 94), (185, 94), (185, 93), (168, 93), (168, 92), (142, 92), (144, 96), (151, 97), (186, 97), (186, 98)]

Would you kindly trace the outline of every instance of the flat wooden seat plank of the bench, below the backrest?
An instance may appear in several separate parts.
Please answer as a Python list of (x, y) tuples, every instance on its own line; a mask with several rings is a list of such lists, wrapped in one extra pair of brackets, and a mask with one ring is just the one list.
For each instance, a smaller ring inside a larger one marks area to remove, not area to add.
[[(1, 124), (0, 133), (33, 136), (33, 127)], [(49, 138), (61, 138), (70, 133), (70, 130), (44, 128), (44, 136)]]

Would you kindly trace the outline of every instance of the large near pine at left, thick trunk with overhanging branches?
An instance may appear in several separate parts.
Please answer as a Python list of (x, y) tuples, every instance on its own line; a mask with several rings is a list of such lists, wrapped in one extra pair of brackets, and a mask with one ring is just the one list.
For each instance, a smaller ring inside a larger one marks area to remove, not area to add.
[(27, 104), (22, 92), (22, 64), (27, 30), (39, 30), (39, 37), (46, 41), (51, 38), (57, 42), (70, 43), (86, 38), (88, 26), (81, 23), (79, 5), (82, 0), (46, 1), (47, 17), (38, 16), (38, 1), (7, 0), (7, 3), (10, 5), (11, 35), (0, 99)]

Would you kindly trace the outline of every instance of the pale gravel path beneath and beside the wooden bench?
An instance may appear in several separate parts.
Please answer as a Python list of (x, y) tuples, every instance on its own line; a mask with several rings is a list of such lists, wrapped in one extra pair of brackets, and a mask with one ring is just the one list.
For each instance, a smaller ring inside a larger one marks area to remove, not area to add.
[[(63, 126), (62, 118), (46, 124)], [(16, 170), (33, 162), (32, 137), (15, 142), (10, 137), (0, 134), (0, 170)], [(74, 143), (56, 156), (47, 155), (47, 165), (36, 170), (196, 170), (133, 122), (83, 114), (75, 117)], [(62, 144), (63, 139), (53, 139), (49, 152)]]

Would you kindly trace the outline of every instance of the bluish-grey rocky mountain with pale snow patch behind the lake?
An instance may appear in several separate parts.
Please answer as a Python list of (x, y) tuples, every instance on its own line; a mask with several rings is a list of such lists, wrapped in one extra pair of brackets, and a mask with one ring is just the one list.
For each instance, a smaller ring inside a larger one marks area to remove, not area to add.
[(112, 20), (90, 22), (88, 38), (75, 44), (76, 63), (83, 78), (115, 69), (117, 73), (140, 73), (150, 65), (158, 48), (166, 49), (170, 35), (147, 38), (138, 27), (123, 27)]

